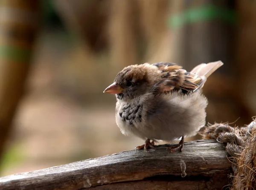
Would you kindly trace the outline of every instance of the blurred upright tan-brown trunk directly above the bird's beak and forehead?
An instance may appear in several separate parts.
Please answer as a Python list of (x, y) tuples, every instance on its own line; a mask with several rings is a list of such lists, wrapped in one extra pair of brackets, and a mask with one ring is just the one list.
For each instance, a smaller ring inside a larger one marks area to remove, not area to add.
[(109, 43), (111, 63), (118, 69), (138, 63), (138, 2), (111, 0)]

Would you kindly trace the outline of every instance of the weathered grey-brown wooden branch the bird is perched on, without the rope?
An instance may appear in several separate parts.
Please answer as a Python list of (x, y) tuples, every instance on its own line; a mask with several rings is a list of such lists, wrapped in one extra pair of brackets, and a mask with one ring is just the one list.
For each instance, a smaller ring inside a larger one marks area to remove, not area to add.
[(231, 163), (221, 143), (186, 142), (182, 153), (130, 150), (0, 178), (1, 190), (221, 189)]

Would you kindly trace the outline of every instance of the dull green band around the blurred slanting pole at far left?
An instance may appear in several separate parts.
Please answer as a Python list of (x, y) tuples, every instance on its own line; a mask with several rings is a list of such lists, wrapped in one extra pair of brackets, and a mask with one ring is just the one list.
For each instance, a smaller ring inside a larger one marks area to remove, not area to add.
[(12, 60), (17, 62), (28, 62), (31, 57), (31, 50), (14, 47), (14, 46), (0, 46), (0, 59)]

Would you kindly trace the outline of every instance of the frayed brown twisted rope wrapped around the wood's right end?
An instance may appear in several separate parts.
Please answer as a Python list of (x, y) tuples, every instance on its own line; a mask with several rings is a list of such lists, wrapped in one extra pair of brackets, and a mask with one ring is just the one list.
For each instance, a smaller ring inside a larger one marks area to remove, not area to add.
[(227, 123), (208, 124), (201, 135), (225, 144), (234, 172), (230, 189), (256, 190), (256, 119), (245, 127), (236, 128)]

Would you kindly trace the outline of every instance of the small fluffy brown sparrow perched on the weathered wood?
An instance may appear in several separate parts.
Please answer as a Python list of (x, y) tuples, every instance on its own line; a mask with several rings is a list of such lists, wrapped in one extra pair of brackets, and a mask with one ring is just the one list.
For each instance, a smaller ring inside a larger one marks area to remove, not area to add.
[(125, 67), (104, 91), (116, 94), (116, 124), (124, 135), (145, 139), (136, 149), (147, 151), (157, 140), (181, 137), (169, 149), (182, 151), (184, 137), (194, 136), (205, 125), (208, 102), (201, 88), (221, 65), (202, 63), (190, 72), (171, 62)]

